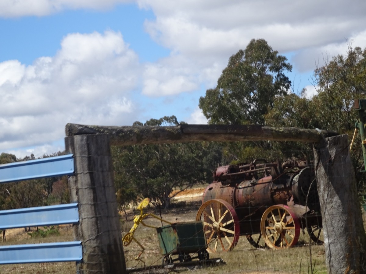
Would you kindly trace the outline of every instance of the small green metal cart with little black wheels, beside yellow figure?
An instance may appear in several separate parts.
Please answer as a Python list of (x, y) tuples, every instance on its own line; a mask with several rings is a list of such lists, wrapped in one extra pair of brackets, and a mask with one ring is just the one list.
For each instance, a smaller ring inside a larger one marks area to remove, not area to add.
[[(162, 263), (190, 262), (192, 259), (208, 260), (207, 241), (202, 222), (181, 222), (156, 228)], [(191, 256), (191, 253), (197, 255)], [(173, 258), (178, 255), (178, 258)]]

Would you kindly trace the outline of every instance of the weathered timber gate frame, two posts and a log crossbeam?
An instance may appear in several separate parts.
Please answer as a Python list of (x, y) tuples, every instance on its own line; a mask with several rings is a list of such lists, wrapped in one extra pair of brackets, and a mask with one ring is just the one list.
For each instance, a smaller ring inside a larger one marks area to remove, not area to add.
[(67, 124), (66, 136), (66, 152), (73, 155), (75, 163), (74, 176), (69, 177), (70, 197), (77, 203), (80, 216), (74, 223), (74, 236), (82, 245), (82, 259), (75, 260), (78, 273), (127, 273), (110, 145), (255, 140), (314, 143), (328, 272), (359, 273), (366, 269), (366, 236), (347, 135), (319, 129), (244, 125)]

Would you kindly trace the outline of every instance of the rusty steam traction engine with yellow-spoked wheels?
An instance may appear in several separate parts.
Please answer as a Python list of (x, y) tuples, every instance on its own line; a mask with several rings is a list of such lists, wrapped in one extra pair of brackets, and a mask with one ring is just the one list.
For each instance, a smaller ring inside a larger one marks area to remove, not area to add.
[(301, 230), (322, 244), (315, 174), (306, 161), (254, 160), (217, 168), (196, 220), (203, 221), (212, 252), (231, 250), (240, 235), (257, 248), (290, 247)]

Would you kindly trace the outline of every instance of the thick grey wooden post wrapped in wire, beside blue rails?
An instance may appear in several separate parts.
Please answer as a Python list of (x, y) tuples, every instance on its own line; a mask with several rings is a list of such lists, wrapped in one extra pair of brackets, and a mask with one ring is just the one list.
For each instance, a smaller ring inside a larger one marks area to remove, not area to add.
[(68, 180), (71, 201), (79, 204), (80, 222), (74, 226), (74, 236), (83, 246), (77, 273), (127, 273), (109, 139), (107, 134), (65, 138), (76, 168)]

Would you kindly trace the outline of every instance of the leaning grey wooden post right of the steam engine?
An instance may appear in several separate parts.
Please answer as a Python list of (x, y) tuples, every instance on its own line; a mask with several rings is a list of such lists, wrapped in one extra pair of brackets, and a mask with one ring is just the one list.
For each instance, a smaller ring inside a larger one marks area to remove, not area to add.
[(366, 236), (347, 135), (314, 147), (328, 273), (366, 273)]

